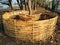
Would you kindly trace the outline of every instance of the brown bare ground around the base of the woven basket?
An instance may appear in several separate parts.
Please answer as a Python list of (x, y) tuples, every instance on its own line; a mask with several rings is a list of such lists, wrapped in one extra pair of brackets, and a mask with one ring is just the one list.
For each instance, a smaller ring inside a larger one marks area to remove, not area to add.
[[(39, 8), (41, 12), (44, 12), (43, 8)], [(4, 33), (3, 24), (2, 24), (2, 14), (0, 13), (0, 45), (60, 45), (60, 18), (58, 19), (56, 30), (55, 30), (55, 37), (53, 40), (47, 40), (46, 42), (25, 42), (19, 39), (11, 38)], [(59, 15), (58, 15), (59, 16)], [(60, 17), (60, 16), (59, 16)], [(17, 42), (18, 41), (18, 42)]]

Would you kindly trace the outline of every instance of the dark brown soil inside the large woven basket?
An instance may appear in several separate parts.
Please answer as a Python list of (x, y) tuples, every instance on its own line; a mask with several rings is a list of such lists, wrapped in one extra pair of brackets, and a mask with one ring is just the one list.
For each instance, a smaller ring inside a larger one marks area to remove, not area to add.
[[(33, 15), (35, 15), (35, 14), (37, 15), (37, 12), (33, 13)], [(22, 16), (22, 15), (24, 15), (24, 16)], [(15, 19), (15, 20), (22, 20), (22, 21), (31, 20), (30, 15), (26, 15), (26, 14), (14, 15), (14, 16), (12, 16), (12, 18)], [(38, 20), (46, 20), (46, 19), (50, 19), (50, 18), (53, 18), (53, 17), (49, 13), (42, 13)]]

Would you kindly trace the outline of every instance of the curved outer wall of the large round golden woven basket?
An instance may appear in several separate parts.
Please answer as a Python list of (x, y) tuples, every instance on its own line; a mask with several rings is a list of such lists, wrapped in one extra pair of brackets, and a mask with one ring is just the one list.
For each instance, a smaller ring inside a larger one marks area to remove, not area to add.
[(3, 15), (5, 33), (8, 36), (31, 42), (45, 41), (52, 36), (58, 18), (57, 15), (52, 15), (53, 18), (47, 20), (21, 21), (11, 19), (11, 14), (11, 12), (7, 12)]

